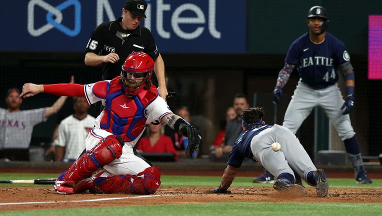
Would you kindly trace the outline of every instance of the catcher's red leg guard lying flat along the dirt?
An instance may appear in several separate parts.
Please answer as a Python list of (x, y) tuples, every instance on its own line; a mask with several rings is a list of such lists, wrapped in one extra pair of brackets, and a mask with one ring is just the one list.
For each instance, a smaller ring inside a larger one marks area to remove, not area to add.
[(92, 191), (103, 193), (155, 193), (160, 186), (160, 169), (148, 167), (136, 175), (116, 175), (110, 178), (99, 177), (94, 180)]

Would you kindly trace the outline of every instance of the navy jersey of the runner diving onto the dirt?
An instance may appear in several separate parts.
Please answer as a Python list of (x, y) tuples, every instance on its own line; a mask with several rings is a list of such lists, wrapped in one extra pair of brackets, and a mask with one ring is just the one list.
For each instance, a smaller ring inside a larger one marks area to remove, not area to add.
[(262, 130), (272, 127), (269, 124), (257, 124), (242, 131), (237, 137), (232, 151), (229, 153), (227, 164), (233, 167), (240, 167), (245, 157), (254, 160), (252, 150), (250, 149), (250, 142), (253, 136), (257, 135)]

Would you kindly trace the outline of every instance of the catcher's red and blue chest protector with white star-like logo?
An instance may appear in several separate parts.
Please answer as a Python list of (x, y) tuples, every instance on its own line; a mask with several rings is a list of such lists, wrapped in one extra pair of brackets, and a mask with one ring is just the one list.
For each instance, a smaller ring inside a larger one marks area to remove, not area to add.
[(144, 109), (157, 95), (156, 88), (151, 85), (147, 90), (142, 89), (136, 96), (128, 97), (122, 89), (119, 78), (114, 78), (110, 81), (106, 94), (100, 127), (119, 135), (125, 142), (134, 140), (144, 129), (146, 122)]

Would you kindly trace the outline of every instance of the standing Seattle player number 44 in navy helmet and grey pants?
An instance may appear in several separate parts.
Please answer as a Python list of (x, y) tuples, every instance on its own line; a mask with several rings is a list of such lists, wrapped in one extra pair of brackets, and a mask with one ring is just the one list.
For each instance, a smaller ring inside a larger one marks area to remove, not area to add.
[[(307, 13), (309, 32), (302, 34), (290, 45), (284, 67), (278, 73), (273, 90), (273, 101), (278, 102), (281, 88), (295, 68), (300, 76), (292, 99), (286, 109), (283, 126), (293, 133), (315, 106), (322, 107), (344, 142), (354, 168), (357, 183), (371, 183), (363, 167), (355, 132), (349, 113), (354, 107), (354, 73), (343, 42), (326, 32), (326, 9), (313, 6)], [(338, 73), (345, 80), (347, 97), (342, 99), (337, 86)]]

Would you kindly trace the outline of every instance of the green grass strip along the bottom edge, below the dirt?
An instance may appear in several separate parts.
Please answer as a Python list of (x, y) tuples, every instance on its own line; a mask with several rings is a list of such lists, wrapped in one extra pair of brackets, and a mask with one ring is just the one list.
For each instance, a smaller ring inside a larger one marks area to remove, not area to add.
[(380, 215), (380, 203), (270, 203), (216, 202), (201, 204), (139, 205), (122, 207), (65, 208), (0, 211), (0, 215)]

